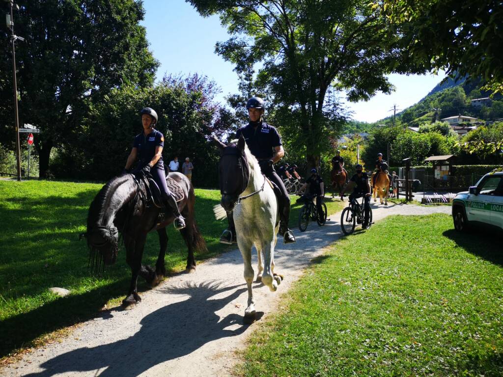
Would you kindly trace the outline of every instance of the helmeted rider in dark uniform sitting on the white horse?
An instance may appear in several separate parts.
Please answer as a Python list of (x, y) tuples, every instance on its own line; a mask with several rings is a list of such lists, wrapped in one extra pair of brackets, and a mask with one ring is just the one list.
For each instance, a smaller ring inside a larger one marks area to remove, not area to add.
[[(280, 135), (276, 128), (268, 125), (263, 120), (264, 100), (259, 97), (252, 97), (246, 103), (246, 109), (250, 119), (249, 123), (237, 130), (236, 137), (242, 136), (244, 138), (251, 154), (259, 160), (262, 173), (278, 186), (281, 192), (277, 194), (280, 212), (279, 234), (283, 236), (285, 243), (296, 242), (293, 232), (288, 229), (290, 197), (283, 180), (274, 170), (274, 163), (285, 155)], [(227, 219), (229, 220), (229, 227), (220, 236), (220, 242), (230, 244), (236, 242), (236, 231), (231, 212), (227, 212)]]

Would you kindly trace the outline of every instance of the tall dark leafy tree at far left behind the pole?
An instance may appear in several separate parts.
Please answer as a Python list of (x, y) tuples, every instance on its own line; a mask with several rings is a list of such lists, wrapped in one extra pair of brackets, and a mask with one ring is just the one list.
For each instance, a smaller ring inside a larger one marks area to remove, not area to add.
[[(44, 176), (53, 147), (66, 145), (112, 89), (150, 86), (158, 63), (139, 25), (144, 16), (139, 0), (19, 3), (16, 33), (27, 40), (16, 50), (20, 123), (42, 129), (35, 147)], [(2, 95), (12, 88), (8, 38), (0, 32), (8, 57), (0, 61)], [(12, 129), (10, 124), (0, 128), (2, 140), (14, 137)]]

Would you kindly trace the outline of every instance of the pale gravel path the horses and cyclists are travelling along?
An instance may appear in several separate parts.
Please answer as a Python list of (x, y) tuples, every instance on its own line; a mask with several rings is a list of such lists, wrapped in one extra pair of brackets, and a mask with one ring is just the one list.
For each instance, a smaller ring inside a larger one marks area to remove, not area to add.
[[(373, 207), (374, 221), (389, 215), (450, 214), (447, 206)], [(295, 232), (297, 243), (276, 248), (276, 270), (285, 280), (276, 293), (254, 284), (259, 318), (274, 312), (281, 294), (322, 248), (341, 236), (340, 213), (324, 227), (310, 223)], [(257, 256), (254, 268), (257, 270)], [(2, 376), (222, 376), (236, 362), (234, 351), (256, 324), (245, 325), (246, 284), (239, 250), (199, 264), (142, 294), (132, 310), (115, 308), (80, 326), (61, 343), (38, 348), (0, 370)], [(54, 313), (57, 315), (57, 313)]]

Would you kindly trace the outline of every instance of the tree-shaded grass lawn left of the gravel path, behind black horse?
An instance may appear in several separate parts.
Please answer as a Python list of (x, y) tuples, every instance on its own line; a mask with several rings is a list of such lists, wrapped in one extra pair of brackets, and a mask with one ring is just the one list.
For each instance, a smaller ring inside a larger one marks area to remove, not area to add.
[[(129, 288), (131, 271), (121, 248), (117, 263), (96, 276), (88, 268), (85, 232), (89, 205), (102, 184), (54, 181), (0, 181), (0, 358), (39, 344), (49, 334), (95, 316), (105, 305), (116, 305)], [(227, 221), (216, 221), (213, 206), (218, 190), (196, 189), (196, 220), (208, 252), (202, 260), (229, 250), (218, 243)], [(292, 197), (292, 202), (295, 202)], [(327, 201), (337, 212), (338, 201)], [(300, 205), (293, 205), (291, 227), (297, 227)], [(179, 232), (168, 228), (165, 265), (170, 273), (185, 268), (187, 247)], [(281, 242), (281, 241), (280, 241)], [(143, 263), (154, 265), (157, 233), (148, 235)], [(138, 279), (140, 291), (149, 287)], [(58, 298), (51, 287), (71, 291)]]

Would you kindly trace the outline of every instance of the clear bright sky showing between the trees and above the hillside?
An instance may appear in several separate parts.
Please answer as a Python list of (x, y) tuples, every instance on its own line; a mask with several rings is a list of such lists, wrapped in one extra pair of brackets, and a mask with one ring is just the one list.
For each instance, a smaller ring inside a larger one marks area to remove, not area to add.
[[(161, 63), (157, 78), (165, 73), (198, 73), (208, 76), (220, 86), (218, 100), (224, 102), (229, 93), (237, 92), (237, 75), (232, 64), (216, 55), (215, 43), (228, 39), (218, 17), (202, 18), (184, 0), (144, 0), (147, 39), (155, 58)], [(421, 100), (444, 76), (404, 76), (392, 74), (390, 81), (396, 91), (378, 94), (368, 102), (348, 103), (359, 121), (375, 122), (392, 113), (394, 104), (405, 109)]]

